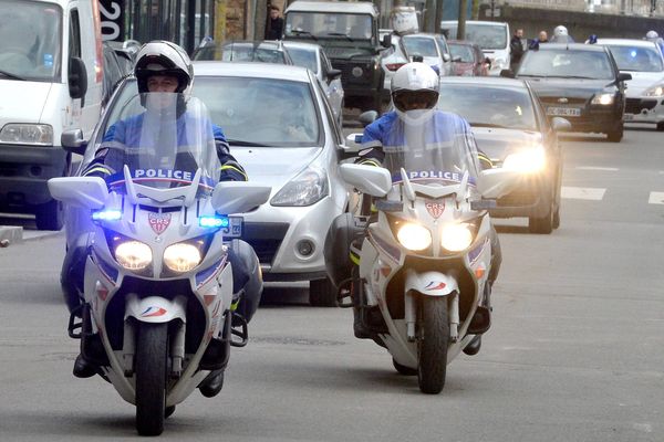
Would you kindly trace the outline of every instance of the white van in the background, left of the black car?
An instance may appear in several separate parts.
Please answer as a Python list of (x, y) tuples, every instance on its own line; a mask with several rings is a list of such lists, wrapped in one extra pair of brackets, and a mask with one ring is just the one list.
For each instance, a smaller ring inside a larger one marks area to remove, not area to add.
[[(452, 40), (457, 38), (457, 21), (442, 21), (442, 32), (447, 32)], [(499, 21), (466, 21), (465, 40), (477, 43), (481, 52), (491, 61), (489, 75), (500, 75), (500, 71), (509, 69), (509, 24)]]

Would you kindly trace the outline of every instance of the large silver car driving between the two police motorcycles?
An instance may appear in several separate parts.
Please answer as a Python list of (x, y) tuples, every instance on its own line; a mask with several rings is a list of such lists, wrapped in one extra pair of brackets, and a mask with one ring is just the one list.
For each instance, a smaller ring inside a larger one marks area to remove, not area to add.
[(243, 215), (264, 281), (310, 281), (312, 305), (335, 305), (323, 244), (349, 190), (338, 171), (343, 134), (320, 82), (304, 67), (264, 63), (195, 62), (194, 72), (193, 94), (249, 180), (272, 187), (270, 201)]

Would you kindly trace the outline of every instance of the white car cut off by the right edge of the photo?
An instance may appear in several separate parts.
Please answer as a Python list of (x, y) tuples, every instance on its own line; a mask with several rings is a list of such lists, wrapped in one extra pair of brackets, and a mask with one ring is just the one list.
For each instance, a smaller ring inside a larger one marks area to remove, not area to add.
[(625, 122), (652, 123), (664, 130), (664, 54), (647, 40), (598, 39), (609, 48), (626, 82)]

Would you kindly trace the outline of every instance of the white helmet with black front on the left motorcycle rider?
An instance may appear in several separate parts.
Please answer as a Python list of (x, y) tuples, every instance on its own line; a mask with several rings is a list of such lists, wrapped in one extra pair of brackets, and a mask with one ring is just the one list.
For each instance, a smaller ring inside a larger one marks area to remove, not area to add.
[(155, 40), (145, 43), (136, 54), (134, 75), (138, 82), (138, 93), (147, 91), (147, 78), (152, 75), (177, 77), (176, 93), (187, 96), (194, 80), (194, 66), (184, 49), (175, 43)]

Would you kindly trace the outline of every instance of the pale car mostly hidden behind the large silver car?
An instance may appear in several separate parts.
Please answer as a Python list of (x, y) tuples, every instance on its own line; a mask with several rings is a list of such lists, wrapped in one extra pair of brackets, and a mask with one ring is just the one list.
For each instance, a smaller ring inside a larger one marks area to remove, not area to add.
[(325, 91), (332, 112), (340, 127), (343, 126), (343, 86), (341, 71), (332, 67), (325, 51), (314, 43), (287, 40), (283, 46), (293, 64), (309, 69), (315, 74)]

